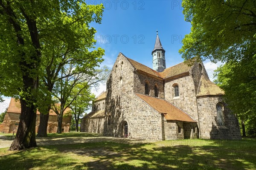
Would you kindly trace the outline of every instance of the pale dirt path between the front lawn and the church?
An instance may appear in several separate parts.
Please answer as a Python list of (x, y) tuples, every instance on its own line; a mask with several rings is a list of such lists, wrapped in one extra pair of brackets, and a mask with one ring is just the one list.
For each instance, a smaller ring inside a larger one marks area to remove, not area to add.
[[(0, 136), (0, 148), (11, 146), (13, 140), (14, 140), (14, 137)], [(99, 136), (99, 137), (63, 137), (63, 138), (45, 137), (45, 138), (37, 138), (36, 142), (38, 146), (40, 146), (40, 145), (93, 143), (93, 142), (116, 142), (116, 143), (124, 143), (124, 144), (140, 144), (140, 143), (148, 143), (148, 142), (154, 142), (154, 141)]]

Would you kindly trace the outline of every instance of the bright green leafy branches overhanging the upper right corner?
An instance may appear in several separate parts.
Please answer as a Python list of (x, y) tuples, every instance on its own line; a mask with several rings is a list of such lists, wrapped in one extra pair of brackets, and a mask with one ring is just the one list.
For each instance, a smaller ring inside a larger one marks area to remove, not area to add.
[(185, 20), (192, 25), (180, 53), (212, 62), (239, 61), (256, 47), (256, 4), (253, 0), (183, 0)]

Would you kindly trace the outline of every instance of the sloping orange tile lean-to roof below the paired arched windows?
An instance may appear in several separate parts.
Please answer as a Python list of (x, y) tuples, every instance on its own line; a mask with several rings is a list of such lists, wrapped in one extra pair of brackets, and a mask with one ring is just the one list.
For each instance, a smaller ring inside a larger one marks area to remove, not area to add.
[(146, 102), (151, 108), (153, 108), (158, 113), (163, 113), (166, 120), (176, 120), (183, 122), (196, 122), (192, 117), (190, 117), (187, 113), (177, 108), (172, 103), (159, 99), (152, 96), (147, 96), (144, 94), (137, 94), (140, 99)]

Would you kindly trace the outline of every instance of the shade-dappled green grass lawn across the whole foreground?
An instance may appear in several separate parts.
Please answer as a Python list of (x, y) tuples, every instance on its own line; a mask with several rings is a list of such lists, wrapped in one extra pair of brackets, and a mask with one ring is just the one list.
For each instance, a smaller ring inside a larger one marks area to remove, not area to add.
[(256, 139), (190, 139), (147, 144), (113, 142), (52, 145), (10, 152), (0, 149), (2, 170), (255, 170)]

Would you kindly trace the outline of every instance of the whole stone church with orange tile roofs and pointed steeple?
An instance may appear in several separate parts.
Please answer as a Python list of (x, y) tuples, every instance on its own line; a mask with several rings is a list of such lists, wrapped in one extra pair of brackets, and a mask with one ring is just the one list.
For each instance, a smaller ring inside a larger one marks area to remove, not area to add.
[(119, 53), (107, 90), (81, 120), (81, 131), (131, 139), (241, 139), (224, 91), (202, 62), (166, 68), (158, 34), (151, 55), (153, 69)]

